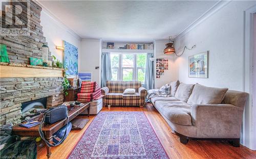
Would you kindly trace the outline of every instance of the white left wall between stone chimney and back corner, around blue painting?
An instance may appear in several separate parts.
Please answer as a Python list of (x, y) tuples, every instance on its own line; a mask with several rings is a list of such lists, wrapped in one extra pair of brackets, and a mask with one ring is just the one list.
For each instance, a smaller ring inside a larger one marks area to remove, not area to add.
[(78, 70), (80, 63), (80, 37), (72, 32), (67, 26), (59, 22), (44, 8), (41, 12), (41, 25), (46, 41), (48, 42), (49, 50), (58, 60), (63, 62), (63, 51), (57, 50), (55, 46), (63, 46), (63, 40), (73, 44), (78, 48)]

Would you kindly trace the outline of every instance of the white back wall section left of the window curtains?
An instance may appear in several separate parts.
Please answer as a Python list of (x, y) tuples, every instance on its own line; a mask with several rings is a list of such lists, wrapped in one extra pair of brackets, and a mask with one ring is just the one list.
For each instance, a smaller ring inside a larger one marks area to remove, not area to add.
[(100, 67), (100, 51), (101, 40), (82, 39), (80, 71), (92, 72), (93, 81), (97, 82), (98, 84), (100, 84), (100, 69), (95, 69), (95, 66)]

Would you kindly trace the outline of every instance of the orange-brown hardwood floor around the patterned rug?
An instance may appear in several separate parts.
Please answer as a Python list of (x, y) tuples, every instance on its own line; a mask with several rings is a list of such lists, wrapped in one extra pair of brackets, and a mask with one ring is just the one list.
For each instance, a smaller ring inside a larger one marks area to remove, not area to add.
[[(256, 158), (256, 151), (244, 146), (232, 147), (222, 141), (189, 141), (183, 145), (179, 137), (172, 134), (169, 126), (152, 105), (144, 108), (135, 107), (112, 107), (103, 108), (102, 111), (143, 111), (153, 125), (156, 134), (166, 150), (169, 158)], [(79, 116), (87, 118), (87, 116)], [(90, 121), (82, 130), (72, 130), (64, 143), (52, 148), (51, 158), (66, 158), (78, 142), (84, 131), (95, 116), (90, 116)], [(46, 157), (46, 147), (38, 148), (38, 158)]]

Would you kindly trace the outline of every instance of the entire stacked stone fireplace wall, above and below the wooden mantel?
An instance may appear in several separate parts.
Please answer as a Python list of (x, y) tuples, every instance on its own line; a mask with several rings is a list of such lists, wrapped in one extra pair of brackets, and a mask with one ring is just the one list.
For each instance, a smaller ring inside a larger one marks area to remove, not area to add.
[[(30, 57), (42, 58), (42, 45), (47, 44), (40, 25), (42, 8), (33, 1), (27, 0), (27, 2), (30, 3), (28, 17), (30, 35), (0, 37), (0, 43), (7, 45), (12, 66), (26, 67), (30, 63)], [(26, 15), (21, 15), (19, 18), (24, 20), (23, 16)], [(4, 19), (1, 18), (1, 20)], [(52, 60), (50, 51), (48, 60)], [(48, 97), (48, 108), (61, 104), (63, 102), (62, 81), (61, 77), (0, 78), (0, 125), (19, 123), (23, 102)]]

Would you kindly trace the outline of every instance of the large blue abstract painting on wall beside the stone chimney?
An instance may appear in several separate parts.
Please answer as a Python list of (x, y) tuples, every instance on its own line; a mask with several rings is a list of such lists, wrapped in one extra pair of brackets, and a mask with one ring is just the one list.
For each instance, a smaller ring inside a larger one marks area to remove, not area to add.
[(78, 49), (71, 43), (64, 41), (64, 68), (67, 75), (78, 74)]

